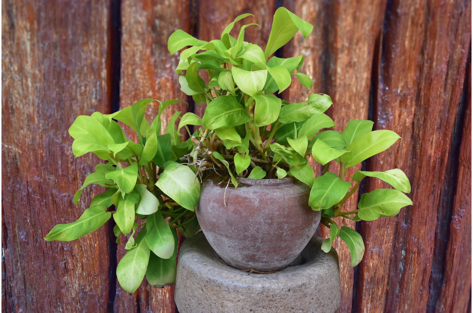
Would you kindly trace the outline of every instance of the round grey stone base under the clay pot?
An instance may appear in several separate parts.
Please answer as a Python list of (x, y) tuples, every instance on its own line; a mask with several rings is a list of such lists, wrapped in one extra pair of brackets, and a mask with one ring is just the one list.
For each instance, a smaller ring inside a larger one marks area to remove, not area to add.
[(337, 312), (341, 301), (338, 255), (314, 236), (287, 268), (245, 273), (222, 263), (200, 232), (179, 251), (175, 302), (180, 313)]

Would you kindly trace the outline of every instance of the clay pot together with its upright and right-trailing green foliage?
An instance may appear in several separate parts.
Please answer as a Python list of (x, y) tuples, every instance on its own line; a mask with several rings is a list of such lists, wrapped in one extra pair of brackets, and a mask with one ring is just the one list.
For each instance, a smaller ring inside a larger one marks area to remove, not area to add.
[[(263, 50), (244, 41), (245, 28), (257, 24), (246, 24), (236, 37), (230, 35), (235, 23), (248, 16), (252, 15), (236, 17), (220, 39), (202, 41), (176, 30), (168, 40), (171, 54), (190, 46), (180, 53), (175, 71), (181, 90), (196, 104), (207, 104), (202, 118), (185, 113), (178, 127), (195, 125), (198, 129), (184, 163), (203, 179), (196, 209), (202, 231), (228, 264), (269, 271), (294, 260), (320, 220), (330, 228), (322, 249), (328, 252), (339, 236), (350, 248), (351, 266), (356, 266), (364, 253), (363, 240), (350, 227), (338, 227), (333, 219), (392, 217), (412, 205), (403, 193), (411, 187), (400, 169), (357, 171), (352, 177), (346, 177), (346, 171), (400, 137), (391, 130), (372, 130), (373, 122), (365, 120), (351, 120), (342, 132), (324, 130), (335, 125), (324, 114), (333, 104), (324, 94), (309, 94), (300, 103), (281, 100), (277, 94), (289, 87), (292, 78), (307, 90), (312, 88), (312, 79), (300, 72), (304, 56), (278, 58), (272, 54), (298, 31), (307, 37), (313, 27), (279, 8)], [(324, 165), (322, 175), (315, 177), (308, 164), (310, 157)], [(335, 164), (338, 168), (333, 173), (331, 165)], [(184, 180), (173, 175), (178, 169), (173, 162), (165, 165), (157, 181), (159, 190), (177, 203), (192, 199), (197, 204), (197, 188), (183, 188)], [(394, 189), (364, 193), (358, 209), (343, 210), (367, 176)]]

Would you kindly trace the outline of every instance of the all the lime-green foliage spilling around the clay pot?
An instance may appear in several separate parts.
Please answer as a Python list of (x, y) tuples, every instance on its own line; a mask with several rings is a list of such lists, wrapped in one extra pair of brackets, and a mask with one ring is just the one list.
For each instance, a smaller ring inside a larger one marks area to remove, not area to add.
[[(309, 205), (322, 211), (321, 223), (330, 229), (322, 249), (328, 252), (339, 236), (350, 248), (351, 266), (361, 261), (361, 236), (350, 227), (339, 227), (333, 219), (371, 221), (392, 217), (412, 204), (404, 194), (411, 187), (397, 168), (357, 171), (352, 177), (346, 177), (346, 171), (389, 148), (400, 137), (391, 130), (372, 130), (373, 122), (367, 120), (351, 120), (342, 132), (333, 130), (335, 123), (324, 113), (333, 103), (324, 94), (308, 93), (307, 100), (299, 103), (281, 100), (277, 95), (289, 87), (293, 78), (307, 90), (312, 88), (312, 78), (300, 71), (304, 56), (278, 58), (272, 54), (298, 31), (306, 38), (313, 27), (279, 8), (263, 50), (244, 40), (245, 29), (257, 24), (246, 24), (236, 37), (230, 35), (236, 22), (249, 16), (236, 17), (220, 39), (209, 42), (182, 30), (169, 37), (171, 54), (188, 47), (180, 52), (175, 72), (181, 90), (195, 103), (207, 105), (202, 117), (175, 112), (164, 134), (160, 134), (160, 114), (178, 100), (159, 102), (159, 113), (149, 123), (144, 118), (145, 109), (157, 100), (144, 99), (113, 114), (93, 113), (76, 119), (69, 130), (75, 156), (93, 152), (106, 164), (97, 165), (96, 172), (87, 176), (74, 201), (90, 184), (108, 189), (92, 200), (76, 222), (55, 226), (46, 240), (79, 238), (113, 216), (117, 237), (131, 232), (126, 243), (129, 251), (117, 267), (121, 286), (133, 292), (145, 274), (152, 285), (172, 284), (175, 229), (186, 237), (199, 229), (193, 210), (202, 178), (216, 175), (236, 188), (237, 177), (290, 176), (311, 188)], [(115, 120), (130, 126), (139, 142), (127, 139)], [(185, 141), (181, 140), (183, 129), (189, 134)], [(308, 164), (310, 157), (324, 165), (322, 175), (315, 177)], [(330, 172), (335, 163), (338, 170)], [(389, 183), (393, 189), (364, 193), (358, 209), (343, 211), (343, 204), (367, 176)], [(112, 204), (116, 210), (107, 211)]]

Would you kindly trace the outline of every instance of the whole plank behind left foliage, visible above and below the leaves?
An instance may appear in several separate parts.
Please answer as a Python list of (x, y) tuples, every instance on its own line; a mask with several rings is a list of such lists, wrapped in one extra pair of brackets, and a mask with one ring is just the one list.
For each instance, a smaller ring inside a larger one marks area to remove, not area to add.
[[(167, 51), (167, 39), (176, 29), (192, 34), (189, 1), (140, 0), (122, 1), (122, 50), (120, 108), (143, 98), (160, 101), (182, 99), (178, 76), (174, 69), (177, 53)], [(184, 103), (171, 105), (164, 111), (161, 132), (175, 111), (187, 112)], [(158, 103), (151, 103), (147, 118), (152, 121), (158, 113)], [(118, 244), (117, 261), (126, 250)], [(133, 294), (124, 291), (117, 282), (115, 312), (175, 312), (174, 287), (157, 289), (143, 282)]]

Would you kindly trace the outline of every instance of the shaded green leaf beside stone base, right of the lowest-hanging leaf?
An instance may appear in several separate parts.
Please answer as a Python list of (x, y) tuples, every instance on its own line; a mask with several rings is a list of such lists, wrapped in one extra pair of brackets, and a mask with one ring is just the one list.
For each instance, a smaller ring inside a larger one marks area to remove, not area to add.
[(169, 259), (162, 259), (151, 253), (149, 255), (148, 269), (146, 270), (146, 280), (153, 287), (161, 288), (172, 286), (176, 280), (176, 254), (177, 254), (177, 233), (171, 231), (174, 237), (174, 253)]

